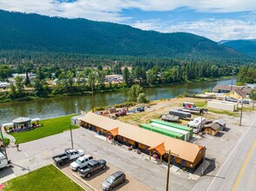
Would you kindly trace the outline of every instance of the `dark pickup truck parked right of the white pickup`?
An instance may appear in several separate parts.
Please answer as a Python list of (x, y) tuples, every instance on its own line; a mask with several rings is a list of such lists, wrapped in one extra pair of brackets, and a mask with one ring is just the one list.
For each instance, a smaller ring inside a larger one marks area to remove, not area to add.
[(91, 160), (88, 161), (84, 168), (79, 169), (79, 175), (90, 178), (91, 175), (98, 173), (106, 168), (106, 161), (104, 160)]

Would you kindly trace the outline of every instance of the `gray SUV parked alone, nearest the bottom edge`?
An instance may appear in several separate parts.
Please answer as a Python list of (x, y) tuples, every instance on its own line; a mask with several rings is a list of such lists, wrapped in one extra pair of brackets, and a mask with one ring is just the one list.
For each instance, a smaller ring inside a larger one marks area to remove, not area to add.
[(111, 176), (109, 176), (104, 182), (101, 184), (101, 188), (103, 190), (112, 190), (117, 187), (120, 183), (125, 182), (125, 174), (121, 171), (118, 171)]

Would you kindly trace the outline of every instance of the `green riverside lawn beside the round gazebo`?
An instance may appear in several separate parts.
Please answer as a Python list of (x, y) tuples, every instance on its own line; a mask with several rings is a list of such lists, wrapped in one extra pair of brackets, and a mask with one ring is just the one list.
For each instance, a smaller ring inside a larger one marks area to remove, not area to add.
[[(26, 132), (11, 133), (10, 135), (15, 137), (16, 144), (41, 139), (45, 136), (56, 135), (70, 129), (72, 116), (74, 115), (42, 120), (40, 121), (40, 124), (42, 125), (40, 128), (35, 128)], [(72, 128), (77, 128), (77, 126), (72, 125)]]

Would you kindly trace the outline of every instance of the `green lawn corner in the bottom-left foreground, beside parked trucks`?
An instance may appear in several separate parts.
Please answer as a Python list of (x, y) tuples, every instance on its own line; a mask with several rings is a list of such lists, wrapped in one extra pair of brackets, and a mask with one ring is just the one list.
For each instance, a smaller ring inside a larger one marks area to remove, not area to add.
[(84, 190), (52, 165), (39, 168), (26, 175), (18, 176), (5, 182), (5, 185), (3, 191)]

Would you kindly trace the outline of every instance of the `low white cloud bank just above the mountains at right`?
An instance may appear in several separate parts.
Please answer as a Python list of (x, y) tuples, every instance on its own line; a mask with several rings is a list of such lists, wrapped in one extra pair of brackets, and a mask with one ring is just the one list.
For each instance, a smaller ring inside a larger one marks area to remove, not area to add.
[(205, 36), (216, 42), (220, 40), (256, 38), (256, 24), (253, 21), (209, 18), (207, 20), (183, 22), (175, 25), (159, 20), (140, 21), (131, 25), (142, 30), (190, 32), (199, 36)]

